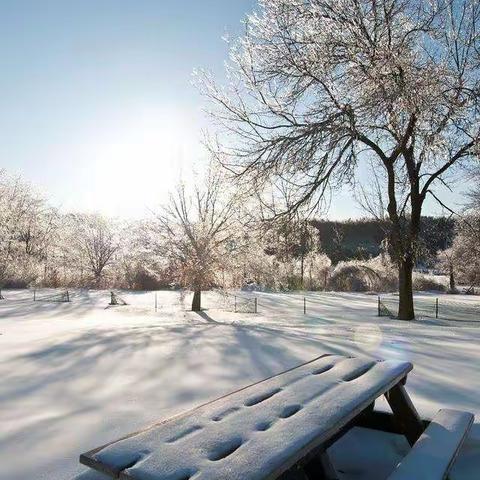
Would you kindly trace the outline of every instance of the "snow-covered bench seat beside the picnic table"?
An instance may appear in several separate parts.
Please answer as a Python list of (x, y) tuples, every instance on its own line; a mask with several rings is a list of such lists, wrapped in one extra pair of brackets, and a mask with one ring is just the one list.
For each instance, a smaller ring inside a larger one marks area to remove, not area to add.
[(447, 478), (473, 419), (471, 413), (440, 410), (389, 480)]

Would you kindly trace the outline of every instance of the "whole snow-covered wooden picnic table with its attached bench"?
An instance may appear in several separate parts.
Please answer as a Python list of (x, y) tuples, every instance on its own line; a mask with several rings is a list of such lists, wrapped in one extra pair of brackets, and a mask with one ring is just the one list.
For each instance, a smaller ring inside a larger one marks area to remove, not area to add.
[[(273, 480), (293, 471), (333, 480), (326, 450), (359, 425), (402, 433), (414, 445), (392, 480), (442, 479), (473, 415), (442, 410), (431, 423), (422, 420), (404, 388), (412, 368), (322, 355), (95, 448), (80, 462), (123, 480)], [(393, 414), (373, 409), (382, 395)], [(432, 458), (431, 475), (412, 476), (430, 472)]]

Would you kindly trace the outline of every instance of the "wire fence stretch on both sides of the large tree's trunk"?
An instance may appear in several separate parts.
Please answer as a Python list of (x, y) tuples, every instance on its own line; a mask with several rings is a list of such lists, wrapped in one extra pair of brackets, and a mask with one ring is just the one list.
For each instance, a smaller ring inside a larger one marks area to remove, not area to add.
[[(415, 316), (418, 319), (434, 318), (454, 322), (477, 322), (480, 324), (480, 303), (458, 301), (445, 297), (414, 297)], [(379, 296), (377, 314), (379, 317), (396, 317), (399, 298)]]

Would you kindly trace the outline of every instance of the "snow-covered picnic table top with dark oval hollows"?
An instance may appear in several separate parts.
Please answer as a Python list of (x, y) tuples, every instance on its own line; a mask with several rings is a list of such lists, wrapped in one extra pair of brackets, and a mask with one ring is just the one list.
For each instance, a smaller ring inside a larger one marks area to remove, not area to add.
[[(209, 480), (224, 479), (225, 472), (231, 480), (276, 479), (328, 444), (411, 368), (323, 357), (95, 449), (82, 463), (110, 468), (123, 479), (163, 480), (184, 471)], [(178, 434), (181, 444), (173, 440)]]

